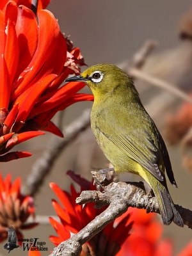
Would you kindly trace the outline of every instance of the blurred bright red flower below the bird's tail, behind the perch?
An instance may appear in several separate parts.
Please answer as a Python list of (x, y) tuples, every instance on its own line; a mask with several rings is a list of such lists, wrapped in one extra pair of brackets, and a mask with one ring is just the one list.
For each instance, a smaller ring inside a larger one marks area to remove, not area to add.
[(172, 256), (173, 244), (170, 240), (161, 240), (163, 225), (156, 220), (155, 213), (146, 213), (143, 209), (129, 208), (133, 221), (130, 236), (127, 238), (118, 256)]

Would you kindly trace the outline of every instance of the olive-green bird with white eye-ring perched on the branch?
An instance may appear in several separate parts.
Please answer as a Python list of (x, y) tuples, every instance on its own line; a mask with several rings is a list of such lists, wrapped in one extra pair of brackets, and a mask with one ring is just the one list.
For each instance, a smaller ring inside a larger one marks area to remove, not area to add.
[(163, 223), (183, 227), (166, 184), (165, 172), (177, 187), (168, 150), (131, 77), (115, 65), (98, 64), (65, 81), (81, 81), (92, 90), (92, 131), (115, 172), (140, 175), (156, 196)]

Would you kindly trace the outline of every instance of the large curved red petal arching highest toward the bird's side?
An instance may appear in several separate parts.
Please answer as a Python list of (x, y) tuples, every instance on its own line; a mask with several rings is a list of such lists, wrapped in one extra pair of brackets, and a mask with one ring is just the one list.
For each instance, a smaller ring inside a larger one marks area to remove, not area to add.
[(38, 46), (31, 63), (28, 65), (28, 72), (24, 70), (20, 75), (24, 79), (13, 92), (12, 100), (16, 99), (32, 80), (35, 83), (38, 79), (47, 76), (47, 74), (60, 74), (63, 63), (65, 63), (66, 43), (63, 36), (61, 37), (60, 35), (58, 22), (52, 13), (47, 10), (41, 10), (38, 19)]

